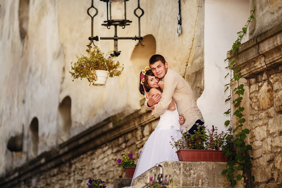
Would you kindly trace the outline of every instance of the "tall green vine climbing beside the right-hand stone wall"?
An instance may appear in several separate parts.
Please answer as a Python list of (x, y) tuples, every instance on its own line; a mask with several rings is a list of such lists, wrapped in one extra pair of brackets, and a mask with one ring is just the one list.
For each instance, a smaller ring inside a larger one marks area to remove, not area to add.
[[(238, 54), (238, 47), (241, 45), (241, 40), (243, 39), (244, 35), (247, 33), (248, 25), (250, 24), (251, 20), (254, 19), (254, 13), (255, 8), (250, 12), (250, 17), (245, 24), (245, 26), (242, 28), (242, 31), (239, 31), (237, 34), (239, 35), (237, 40), (232, 45), (232, 50), (230, 51), (230, 57), (227, 57), (226, 60), (228, 61), (228, 66), (225, 67), (225, 69), (229, 69), (230, 73), (228, 73), (227, 76), (230, 76), (230, 81), (228, 84), (226, 84), (226, 89), (230, 91), (230, 95), (225, 100), (225, 102), (232, 101), (232, 104), (234, 104), (233, 108), (233, 115), (235, 115), (237, 118), (237, 122), (231, 122), (231, 108), (224, 112), (224, 114), (230, 115), (230, 120), (225, 121), (225, 126), (231, 126), (233, 124), (234, 129), (233, 133), (236, 133), (235, 139), (233, 140), (233, 146), (234, 151), (230, 151), (229, 149), (224, 149), (225, 156), (232, 156), (232, 160), (227, 162), (227, 169), (222, 170), (222, 174), (227, 174), (226, 177), (230, 181), (231, 186), (234, 187), (237, 184), (237, 181), (244, 179), (245, 187), (253, 187), (253, 181), (254, 176), (251, 174), (251, 168), (252, 163), (250, 160), (250, 155), (248, 154), (249, 150), (252, 150), (252, 146), (249, 144), (246, 144), (245, 138), (247, 137), (247, 134), (250, 133), (250, 130), (245, 128), (243, 129), (243, 123), (245, 123), (246, 119), (243, 118), (244, 114), (243, 111), (245, 110), (244, 107), (241, 106), (241, 102), (243, 100), (243, 95), (245, 89), (243, 88), (243, 84), (239, 84), (239, 79), (241, 78), (241, 75), (239, 73), (239, 68), (237, 66), (237, 60), (235, 59), (235, 56)], [(224, 60), (224, 62), (226, 61)], [(233, 73), (232, 73), (233, 70)], [(231, 89), (232, 83), (236, 83), (238, 86), (236, 88)], [(232, 98), (232, 92), (234, 92), (235, 99)], [(232, 135), (228, 136), (226, 139), (232, 140)], [(242, 171), (243, 173), (238, 173), (239, 171)], [(235, 176), (234, 174), (237, 173)]]

